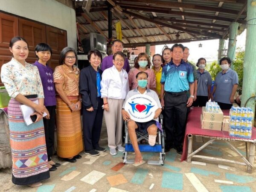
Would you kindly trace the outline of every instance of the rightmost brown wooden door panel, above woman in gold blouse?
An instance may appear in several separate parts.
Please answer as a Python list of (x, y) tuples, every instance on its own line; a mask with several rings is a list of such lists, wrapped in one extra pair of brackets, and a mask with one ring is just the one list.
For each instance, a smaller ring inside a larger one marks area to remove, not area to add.
[(46, 26), (47, 44), (52, 48), (52, 58), (48, 62), (52, 70), (59, 65), (61, 50), (67, 47), (67, 32), (52, 26)]

